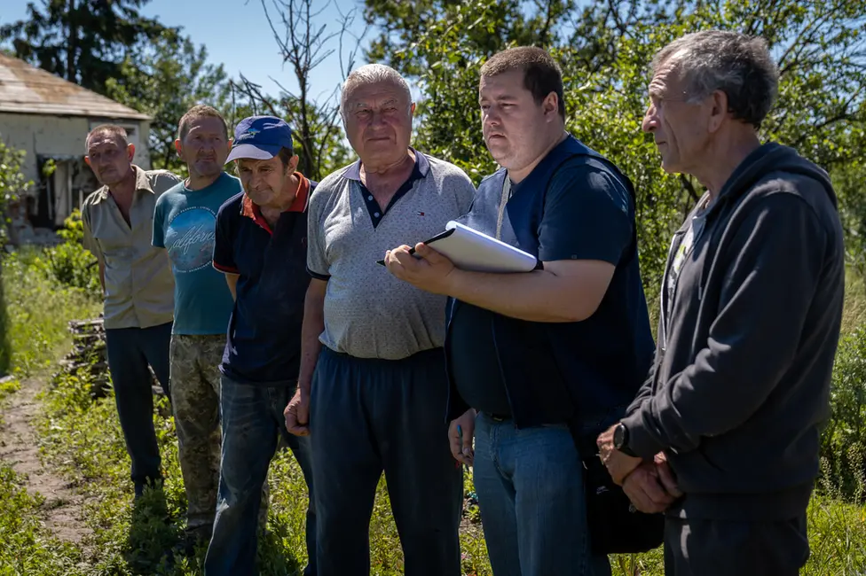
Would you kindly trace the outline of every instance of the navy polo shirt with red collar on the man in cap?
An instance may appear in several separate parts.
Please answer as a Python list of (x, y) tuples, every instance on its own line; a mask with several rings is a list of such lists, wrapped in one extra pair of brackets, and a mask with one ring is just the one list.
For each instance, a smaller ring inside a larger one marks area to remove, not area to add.
[(301, 365), (307, 264), (307, 199), (316, 186), (301, 184), (292, 206), (271, 230), (259, 207), (238, 194), (216, 215), (214, 268), (237, 274), (220, 371), (256, 385), (295, 385)]

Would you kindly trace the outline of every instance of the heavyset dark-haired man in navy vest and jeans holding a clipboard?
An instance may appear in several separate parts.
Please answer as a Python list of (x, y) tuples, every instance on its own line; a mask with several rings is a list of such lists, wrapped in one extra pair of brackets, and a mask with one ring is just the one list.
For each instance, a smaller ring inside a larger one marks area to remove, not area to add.
[(610, 574), (590, 551), (577, 446), (623, 413), (653, 354), (631, 184), (565, 131), (562, 75), (547, 52), (493, 56), (479, 97), (484, 142), (502, 168), (463, 221), (544, 269), (455, 269), (423, 244), (421, 260), (403, 245), (386, 264), (453, 298), (449, 437), (454, 457), (474, 462), (493, 573)]

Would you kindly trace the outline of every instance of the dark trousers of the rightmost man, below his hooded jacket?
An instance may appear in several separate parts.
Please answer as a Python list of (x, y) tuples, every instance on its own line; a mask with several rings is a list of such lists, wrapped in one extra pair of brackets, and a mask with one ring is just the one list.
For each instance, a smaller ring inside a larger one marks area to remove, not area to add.
[(806, 514), (783, 522), (665, 518), (665, 576), (797, 576)]

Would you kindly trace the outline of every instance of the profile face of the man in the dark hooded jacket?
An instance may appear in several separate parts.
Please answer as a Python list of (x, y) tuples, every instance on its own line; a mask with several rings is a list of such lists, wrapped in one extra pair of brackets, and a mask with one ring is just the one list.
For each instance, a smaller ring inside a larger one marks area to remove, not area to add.
[(695, 174), (696, 167), (700, 171), (711, 136), (706, 100), (689, 103), (685, 87), (675, 66), (658, 66), (650, 82), (650, 107), (643, 117), (643, 130), (652, 133), (662, 167), (672, 174)]

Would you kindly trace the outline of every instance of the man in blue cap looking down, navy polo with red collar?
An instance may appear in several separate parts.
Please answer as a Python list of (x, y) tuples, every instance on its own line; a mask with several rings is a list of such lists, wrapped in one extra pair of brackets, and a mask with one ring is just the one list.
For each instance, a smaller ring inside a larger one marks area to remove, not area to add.
[(287, 434), (283, 409), (301, 361), (303, 298), (310, 276), (307, 198), (316, 183), (296, 172), (292, 131), (272, 116), (238, 124), (226, 161), (235, 160), (243, 194), (216, 216), (214, 268), (235, 297), (220, 365), (223, 450), (216, 521), (206, 576), (255, 573), (262, 486), (282, 434), (310, 492), (305, 576), (316, 573), (309, 440)]

